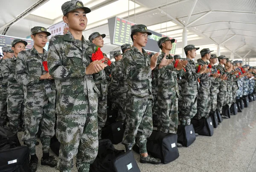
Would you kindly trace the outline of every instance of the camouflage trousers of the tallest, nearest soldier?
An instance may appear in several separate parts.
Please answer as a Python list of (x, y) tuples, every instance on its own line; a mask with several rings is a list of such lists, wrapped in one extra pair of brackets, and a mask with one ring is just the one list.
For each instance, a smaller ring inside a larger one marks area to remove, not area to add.
[(99, 146), (97, 113), (57, 115), (56, 137), (61, 146), (55, 168), (61, 172), (71, 172), (73, 158), (76, 157), (78, 172), (89, 172)]

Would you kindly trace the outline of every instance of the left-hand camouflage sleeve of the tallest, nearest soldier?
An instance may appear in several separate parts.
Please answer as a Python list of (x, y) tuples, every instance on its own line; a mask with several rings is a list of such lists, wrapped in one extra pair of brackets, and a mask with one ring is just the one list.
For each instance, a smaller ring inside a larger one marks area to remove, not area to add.
[(60, 41), (57, 41), (55, 37), (52, 37), (49, 41), (47, 57), (49, 74), (53, 76), (55, 80), (83, 77), (85, 75), (86, 67), (77, 67), (74, 65), (63, 66), (60, 44)]

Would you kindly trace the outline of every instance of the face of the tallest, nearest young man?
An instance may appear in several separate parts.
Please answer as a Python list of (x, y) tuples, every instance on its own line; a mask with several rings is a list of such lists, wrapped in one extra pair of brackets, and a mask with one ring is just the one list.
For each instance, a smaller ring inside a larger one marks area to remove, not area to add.
[(87, 17), (84, 9), (75, 9), (63, 16), (63, 21), (68, 24), (70, 30), (84, 31), (87, 26)]

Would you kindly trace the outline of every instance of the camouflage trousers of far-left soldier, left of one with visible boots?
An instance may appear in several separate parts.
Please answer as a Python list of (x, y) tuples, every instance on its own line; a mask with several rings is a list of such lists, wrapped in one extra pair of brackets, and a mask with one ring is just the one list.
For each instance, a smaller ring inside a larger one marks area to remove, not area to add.
[(18, 132), (20, 125), (20, 115), (24, 111), (24, 92), (22, 86), (12, 85), (8, 87), (7, 95), (7, 116), (9, 118), (9, 129)]

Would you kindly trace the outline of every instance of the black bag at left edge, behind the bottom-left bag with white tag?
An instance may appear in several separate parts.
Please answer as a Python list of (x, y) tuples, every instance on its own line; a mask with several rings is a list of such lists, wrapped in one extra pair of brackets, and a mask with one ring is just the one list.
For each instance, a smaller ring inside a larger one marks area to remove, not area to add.
[(0, 126), (0, 144), (6, 143), (7, 141), (13, 141), (15, 142), (15, 146), (20, 146), (17, 133), (13, 133), (8, 128)]

